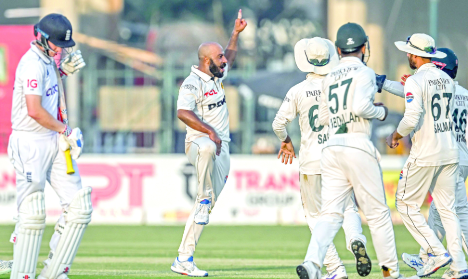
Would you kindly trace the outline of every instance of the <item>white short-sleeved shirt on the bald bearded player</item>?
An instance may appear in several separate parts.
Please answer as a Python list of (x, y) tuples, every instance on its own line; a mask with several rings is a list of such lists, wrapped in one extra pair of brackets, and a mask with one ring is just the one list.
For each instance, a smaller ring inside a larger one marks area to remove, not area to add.
[[(177, 110), (193, 111), (204, 123), (213, 127), (221, 140), (231, 141), (229, 137), (229, 113), (224, 94), (223, 80), (228, 74), (226, 66), (222, 78), (210, 77), (192, 66), (192, 72), (179, 89)], [(186, 142), (207, 135), (186, 126)]]

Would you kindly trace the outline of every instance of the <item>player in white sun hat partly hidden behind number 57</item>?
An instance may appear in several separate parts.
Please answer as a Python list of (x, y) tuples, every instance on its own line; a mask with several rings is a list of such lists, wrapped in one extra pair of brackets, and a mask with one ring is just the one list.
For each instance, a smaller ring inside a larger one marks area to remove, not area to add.
[[(294, 47), (294, 56), (297, 67), (308, 74), (306, 80), (292, 87), (286, 94), (273, 121), (273, 131), (282, 141), (278, 158), (282, 155), (282, 162), (292, 163), (293, 157), (296, 155), (286, 131), (286, 125), (299, 115), (302, 135), (299, 151), (300, 189), (306, 221), (311, 233), (313, 233), (321, 209), (320, 158), (322, 148), (328, 138), (328, 125), (322, 126), (318, 121), (319, 104), (323, 91), (322, 82), (325, 75), (340, 64), (340, 58), (333, 43), (320, 37), (302, 39), (297, 42)], [(371, 262), (365, 250), (366, 238), (362, 235), (361, 218), (357, 213), (354, 196), (351, 196), (345, 209), (343, 228), (346, 234), (347, 248), (353, 252), (356, 258), (357, 273), (360, 276), (367, 276), (371, 270)], [(307, 258), (308, 256), (306, 256)], [(328, 248), (324, 265), (328, 272), (324, 279), (348, 278), (345, 266), (333, 243)]]

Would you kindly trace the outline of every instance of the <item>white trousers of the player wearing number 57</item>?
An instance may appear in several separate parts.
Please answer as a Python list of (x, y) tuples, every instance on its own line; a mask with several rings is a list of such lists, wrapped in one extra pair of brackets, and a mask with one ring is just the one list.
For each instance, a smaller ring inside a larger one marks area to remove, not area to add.
[(322, 150), (322, 214), (315, 225), (306, 259), (319, 267), (343, 224), (353, 190), (369, 225), (379, 266), (399, 271), (395, 234), (385, 200), (382, 170), (377, 155), (349, 146)]

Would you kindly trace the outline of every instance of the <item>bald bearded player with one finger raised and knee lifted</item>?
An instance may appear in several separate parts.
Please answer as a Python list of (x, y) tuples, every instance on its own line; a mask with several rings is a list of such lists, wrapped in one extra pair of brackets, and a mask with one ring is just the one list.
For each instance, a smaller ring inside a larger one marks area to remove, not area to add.
[(185, 153), (195, 166), (198, 193), (185, 226), (179, 257), (171, 266), (175, 273), (206, 277), (193, 262), (193, 253), (208, 224), (209, 214), (228, 179), (229, 113), (223, 80), (233, 66), (239, 33), (247, 26), (239, 10), (226, 50), (216, 42), (198, 48), (198, 66), (182, 83), (177, 100), (177, 117), (187, 126)]

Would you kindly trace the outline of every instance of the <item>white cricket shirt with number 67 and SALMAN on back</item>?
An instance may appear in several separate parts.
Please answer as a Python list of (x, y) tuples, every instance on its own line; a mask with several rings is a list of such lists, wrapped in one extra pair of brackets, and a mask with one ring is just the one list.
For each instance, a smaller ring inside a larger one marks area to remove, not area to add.
[[(440, 166), (459, 162), (451, 106), (455, 97), (452, 78), (433, 63), (426, 63), (405, 82), (405, 114), (397, 132), (410, 135), (408, 160), (418, 166)], [(461, 113), (461, 112), (459, 112)]]

